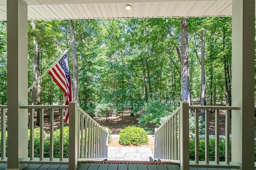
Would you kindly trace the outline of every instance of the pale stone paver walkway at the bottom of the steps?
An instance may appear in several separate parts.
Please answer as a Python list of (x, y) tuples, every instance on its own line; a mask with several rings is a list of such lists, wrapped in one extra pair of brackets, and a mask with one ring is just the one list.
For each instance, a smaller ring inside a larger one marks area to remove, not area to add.
[(150, 161), (154, 156), (147, 147), (108, 147), (108, 160)]

